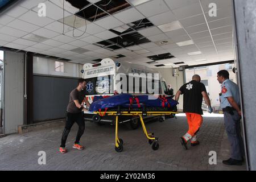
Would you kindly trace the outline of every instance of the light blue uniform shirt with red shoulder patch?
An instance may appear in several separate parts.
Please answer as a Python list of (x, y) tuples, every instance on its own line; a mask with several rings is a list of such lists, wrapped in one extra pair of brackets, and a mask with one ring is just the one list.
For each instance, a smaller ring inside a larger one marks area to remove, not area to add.
[(233, 81), (230, 81), (229, 79), (226, 79), (221, 84), (221, 96), (220, 96), (221, 109), (228, 107), (228, 106), (232, 107), (232, 105), (229, 104), (227, 97), (233, 97), (234, 101), (236, 101), (237, 104), (240, 105), (240, 96), (239, 96), (238, 85), (235, 84)]

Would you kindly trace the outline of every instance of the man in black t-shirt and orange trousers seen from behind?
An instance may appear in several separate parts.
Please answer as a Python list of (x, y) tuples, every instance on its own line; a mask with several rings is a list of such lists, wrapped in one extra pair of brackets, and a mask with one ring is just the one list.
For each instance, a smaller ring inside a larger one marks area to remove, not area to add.
[(183, 112), (186, 114), (188, 120), (188, 131), (180, 138), (180, 142), (185, 150), (188, 149), (187, 142), (189, 140), (191, 140), (191, 146), (199, 144), (199, 141), (196, 139), (196, 133), (199, 131), (200, 126), (203, 123), (203, 117), (201, 116), (203, 114), (203, 97), (205, 103), (209, 107), (209, 113), (212, 113), (212, 107), (210, 106), (207, 90), (204, 84), (200, 81), (200, 76), (194, 75), (192, 77), (192, 81), (181, 86), (175, 95), (175, 100), (179, 101), (180, 94), (184, 94)]

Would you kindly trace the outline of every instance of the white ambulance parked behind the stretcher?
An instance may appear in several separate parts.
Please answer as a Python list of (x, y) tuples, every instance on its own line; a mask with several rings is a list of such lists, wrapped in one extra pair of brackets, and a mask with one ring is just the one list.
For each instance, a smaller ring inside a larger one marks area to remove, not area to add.
[[(148, 84), (148, 81), (152, 82), (150, 83), (151, 86), (154, 85), (156, 86), (156, 88), (158, 88), (156, 93), (165, 96), (173, 95), (173, 92), (167, 90), (166, 82), (164, 81), (162, 76), (158, 72), (154, 71), (154, 69), (148, 68), (143, 65), (120, 63), (118, 61), (113, 61), (112, 59), (106, 58), (102, 59), (100, 63), (84, 64), (81, 72), (82, 78), (86, 80), (87, 84), (85, 88), (86, 99), (90, 103), (93, 102), (94, 96), (112, 96), (115, 92), (130, 93), (133, 95), (150, 94), (148, 93), (148, 89), (145, 88), (147, 87), (146, 85)], [(142, 78), (136, 80), (135, 77), (143, 75), (142, 73), (144, 73), (144, 75), (147, 75), (148, 73), (158, 73), (158, 84), (154, 84), (154, 78), (156, 78), (154, 75), (152, 76), (152, 79), (146, 79), (146, 84), (142, 83), (144, 81)], [(133, 79), (129, 80), (129, 78), (131, 78), (129, 74), (135, 74)], [(118, 85), (118, 82), (122, 80), (122, 78), (120, 79), (120, 75), (125, 75), (125, 77), (127, 78), (127, 85)], [(154, 88), (154, 86), (152, 87)], [(155, 93), (152, 93), (150, 95), (155, 95)], [(148, 117), (147, 119), (155, 118), (158, 118), (159, 121), (163, 121), (163, 117)], [(115, 121), (113, 117), (100, 117), (99, 115), (95, 115), (92, 113), (85, 113), (85, 119), (89, 121), (95, 121), (99, 125), (102, 125), (102, 123), (105, 122), (109, 122), (113, 125), (113, 121)], [(123, 117), (121, 118), (121, 123), (122, 122), (130, 123), (129, 125), (132, 129), (137, 129), (137, 127), (139, 126), (138, 117)]]

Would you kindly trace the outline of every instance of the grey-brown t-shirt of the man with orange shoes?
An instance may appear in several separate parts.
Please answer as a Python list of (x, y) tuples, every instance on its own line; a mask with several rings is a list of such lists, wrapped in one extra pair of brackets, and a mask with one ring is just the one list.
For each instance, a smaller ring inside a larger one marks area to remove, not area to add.
[(82, 109), (77, 108), (74, 101), (78, 100), (79, 104), (81, 104), (82, 100), (84, 99), (83, 93), (83, 90), (81, 92), (79, 92), (77, 89), (73, 89), (71, 91), (69, 94), (69, 103), (67, 106), (68, 113), (81, 113)]

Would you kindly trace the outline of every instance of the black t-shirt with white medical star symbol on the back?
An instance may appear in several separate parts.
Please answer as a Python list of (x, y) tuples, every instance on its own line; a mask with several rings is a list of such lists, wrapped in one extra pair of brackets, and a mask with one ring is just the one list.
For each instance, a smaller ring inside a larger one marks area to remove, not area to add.
[(205, 86), (201, 82), (192, 80), (187, 84), (184, 84), (179, 89), (183, 97), (183, 112), (184, 113), (197, 113), (203, 114), (202, 102), (203, 95), (202, 92), (207, 92)]

